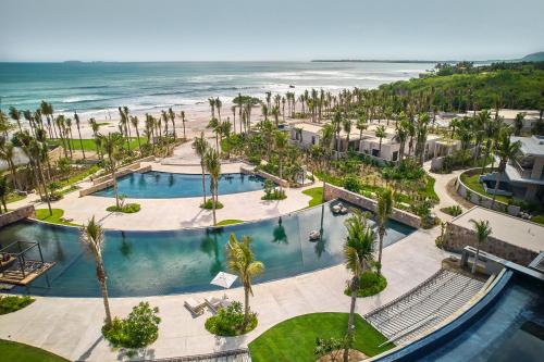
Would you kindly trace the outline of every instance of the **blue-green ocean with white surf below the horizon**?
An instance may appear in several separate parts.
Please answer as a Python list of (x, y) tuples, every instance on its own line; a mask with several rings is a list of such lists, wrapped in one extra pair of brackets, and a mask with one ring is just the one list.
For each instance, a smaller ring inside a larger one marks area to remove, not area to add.
[[(417, 77), (429, 63), (348, 62), (159, 62), (0, 63), (1, 109), (34, 110), (41, 100), (55, 112), (108, 116), (120, 105), (132, 113), (228, 102), (238, 92), (264, 98), (265, 91), (299, 95), (305, 89), (375, 88)], [(294, 86), (295, 88), (289, 88)]]

